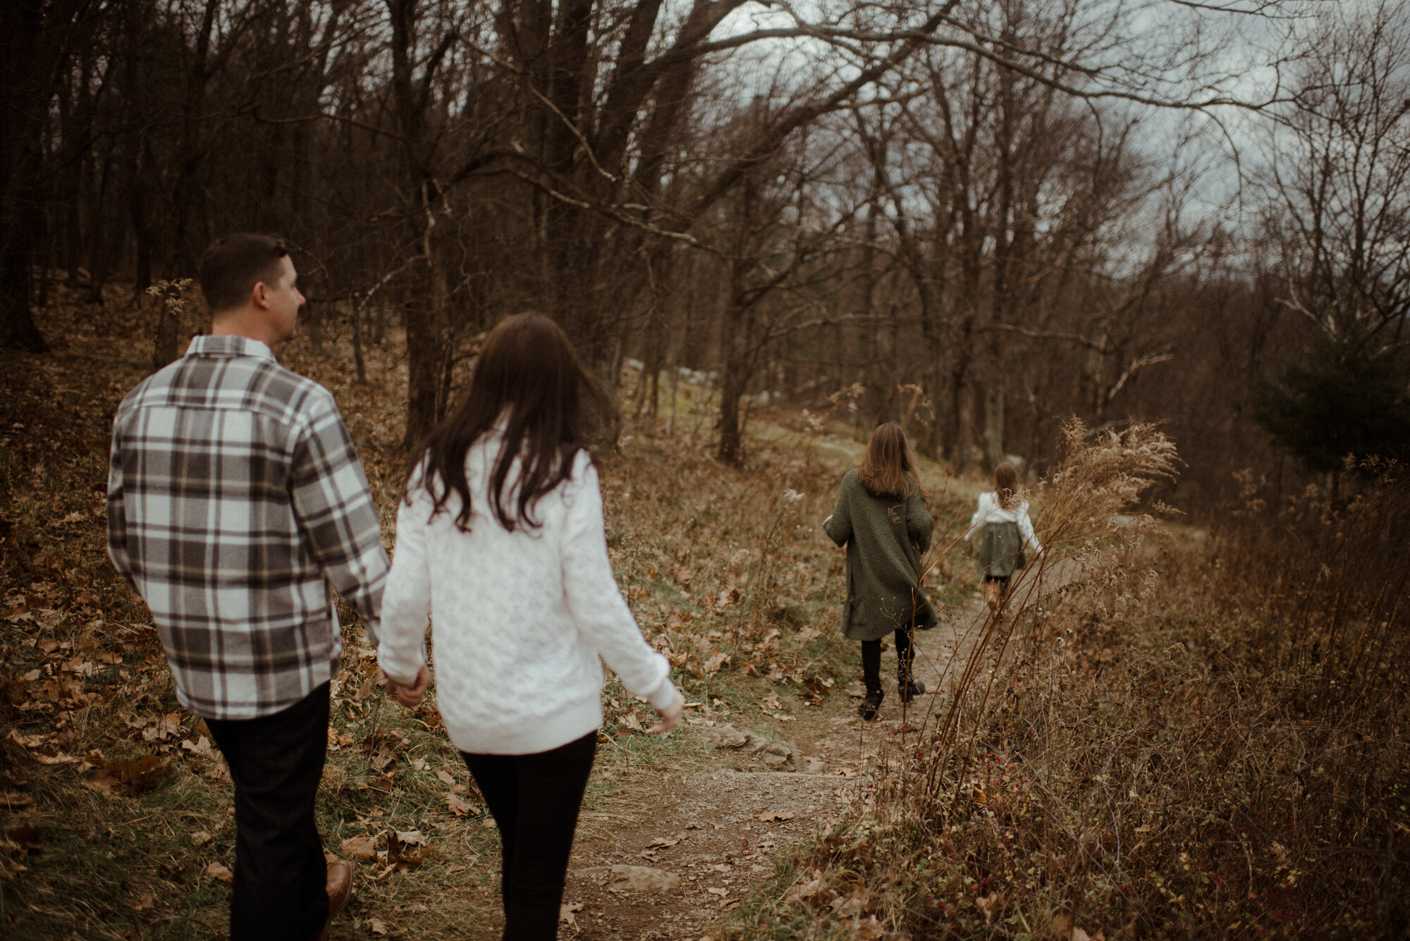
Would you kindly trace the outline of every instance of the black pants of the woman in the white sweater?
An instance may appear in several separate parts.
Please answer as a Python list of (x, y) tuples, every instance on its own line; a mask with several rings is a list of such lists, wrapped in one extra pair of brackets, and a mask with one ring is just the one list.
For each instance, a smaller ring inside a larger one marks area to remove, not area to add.
[(503, 845), (505, 941), (551, 941), (598, 733), (536, 755), (461, 752)]

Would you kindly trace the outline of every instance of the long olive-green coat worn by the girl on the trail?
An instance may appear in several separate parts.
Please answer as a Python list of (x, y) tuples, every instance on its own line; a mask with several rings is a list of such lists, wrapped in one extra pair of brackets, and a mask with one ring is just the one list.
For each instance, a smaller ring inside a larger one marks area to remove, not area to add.
[(918, 489), (905, 500), (877, 497), (857, 483), (856, 470), (847, 470), (838, 509), (822, 527), (847, 548), (846, 638), (880, 640), (908, 624), (912, 614), (916, 627), (935, 627), (935, 609), (918, 585), (935, 521)]

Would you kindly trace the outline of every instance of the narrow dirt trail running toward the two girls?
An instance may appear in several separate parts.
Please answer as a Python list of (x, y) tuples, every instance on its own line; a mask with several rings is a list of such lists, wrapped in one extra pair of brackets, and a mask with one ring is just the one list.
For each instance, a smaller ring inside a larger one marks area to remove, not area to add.
[[(1052, 566), (1034, 599), (1077, 575), (1073, 563)], [(830, 828), (870, 786), (866, 769), (874, 759), (902, 733), (933, 721), (986, 616), (974, 600), (916, 635), (916, 676), (928, 693), (907, 707), (904, 721), (891, 652), (883, 658), (887, 697), (877, 721), (863, 723), (853, 709), (857, 699), (849, 697), (843, 717), (754, 724), (747, 731), (791, 744), (792, 759), (784, 765), (790, 771), (766, 771), (757, 755), (750, 758), (747, 749), (757, 741), (742, 749), (718, 748), (715, 765), (680, 780), (650, 818), (620, 820), (609, 837), (580, 842), (564, 896), (574, 910), (564, 916), (561, 937), (675, 941), (711, 934), (711, 926), (773, 872), (770, 854)], [(708, 741), (722, 725), (695, 721), (675, 734)]]

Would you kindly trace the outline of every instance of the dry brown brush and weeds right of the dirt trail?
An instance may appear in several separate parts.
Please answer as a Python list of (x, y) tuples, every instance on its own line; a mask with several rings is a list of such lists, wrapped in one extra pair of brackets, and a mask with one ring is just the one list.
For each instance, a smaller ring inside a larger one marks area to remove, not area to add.
[(1345, 507), (1070, 547), (1107, 565), (1000, 624), (735, 937), (1406, 937), (1410, 479), (1355, 470)]

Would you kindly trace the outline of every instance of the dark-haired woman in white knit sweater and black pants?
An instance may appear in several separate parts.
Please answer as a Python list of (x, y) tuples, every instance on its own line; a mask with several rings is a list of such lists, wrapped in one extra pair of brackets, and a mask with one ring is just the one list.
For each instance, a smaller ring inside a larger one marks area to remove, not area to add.
[[(608, 561), (580, 396), (602, 396), (541, 314), (502, 321), (470, 392), (407, 478), (378, 662), (407, 706), (436, 702), (502, 845), (505, 938), (554, 938), (602, 724), (602, 661), (674, 727), (684, 700)], [(603, 403), (608, 400), (603, 397)]]

